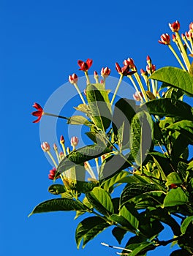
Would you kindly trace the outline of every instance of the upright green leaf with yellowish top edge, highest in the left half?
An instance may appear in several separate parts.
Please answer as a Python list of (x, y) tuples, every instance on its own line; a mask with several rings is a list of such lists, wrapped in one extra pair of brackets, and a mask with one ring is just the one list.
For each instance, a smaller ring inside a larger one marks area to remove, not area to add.
[(111, 105), (105, 86), (100, 83), (88, 84), (86, 98), (91, 110), (92, 121), (96, 127), (105, 131), (110, 126), (112, 119)]

